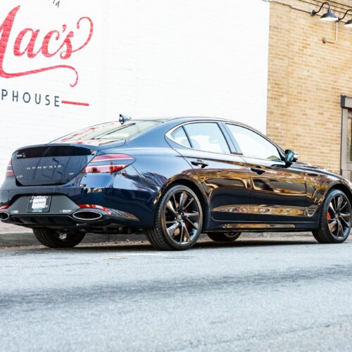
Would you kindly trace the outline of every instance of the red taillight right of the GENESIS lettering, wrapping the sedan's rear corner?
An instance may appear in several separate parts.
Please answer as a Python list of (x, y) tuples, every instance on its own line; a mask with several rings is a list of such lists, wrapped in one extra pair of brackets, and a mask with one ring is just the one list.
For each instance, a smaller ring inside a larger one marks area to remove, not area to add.
[(127, 168), (134, 160), (132, 156), (127, 154), (103, 154), (94, 156), (92, 161), (81, 173), (113, 173)]

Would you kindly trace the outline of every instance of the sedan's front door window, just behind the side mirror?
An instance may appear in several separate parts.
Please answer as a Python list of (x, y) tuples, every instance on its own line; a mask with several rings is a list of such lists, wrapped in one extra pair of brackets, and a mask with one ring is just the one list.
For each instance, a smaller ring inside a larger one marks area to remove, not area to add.
[(227, 124), (244, 156), (281, 161), (274, 144), (245, 127)]

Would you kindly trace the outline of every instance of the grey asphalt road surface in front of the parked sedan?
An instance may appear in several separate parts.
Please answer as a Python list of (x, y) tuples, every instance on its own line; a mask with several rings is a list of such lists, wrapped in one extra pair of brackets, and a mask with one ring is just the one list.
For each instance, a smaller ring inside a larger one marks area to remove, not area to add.
[(352, 241), (0, 250), (1, 351), (351, 351)]

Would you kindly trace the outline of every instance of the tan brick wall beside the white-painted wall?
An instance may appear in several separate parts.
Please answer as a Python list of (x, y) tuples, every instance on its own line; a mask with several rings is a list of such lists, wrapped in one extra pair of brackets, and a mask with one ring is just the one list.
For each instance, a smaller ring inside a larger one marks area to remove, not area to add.
[[(352, 7), (351, 0), (331, 3), (339, 16)], [(340, 95), (352, 96), (352, 30), (340, 23), (337, 44), (324, 44), (322, 37), (334, 39), (334, 23), (304, 12), (320, 4), (270, 3), (267, 133), (301, 161), (339, 172)]]

